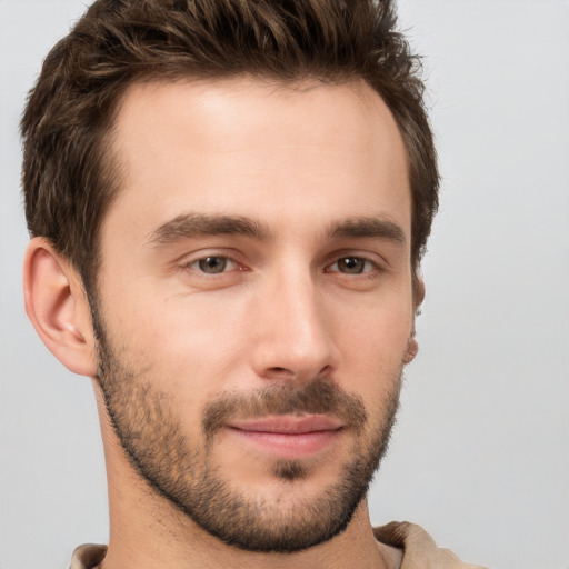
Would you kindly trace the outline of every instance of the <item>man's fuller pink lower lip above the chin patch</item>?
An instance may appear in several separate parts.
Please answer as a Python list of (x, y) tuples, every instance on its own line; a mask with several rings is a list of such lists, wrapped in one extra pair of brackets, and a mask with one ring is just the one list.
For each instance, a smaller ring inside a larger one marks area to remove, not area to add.
[(236, 428), (229, 430), (249, 445), (286, 460), (311, 457), (332, 445), (340, 436), (340, 429), (300, 433), (246, 431)]

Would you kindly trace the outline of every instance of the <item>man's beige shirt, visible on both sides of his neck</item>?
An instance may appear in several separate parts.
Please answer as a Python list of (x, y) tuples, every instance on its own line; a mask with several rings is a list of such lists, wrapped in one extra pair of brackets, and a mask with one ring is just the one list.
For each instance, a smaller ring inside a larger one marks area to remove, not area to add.
[[(392, 521), (373, 529), (378, 541), (403, 550), (400, 569), (485, 569), (478, 565), (463, 563), (452, 551), (440, 549), (422, 528), (408, 521)], [(107, 546), (86, 545), (78, 547), (69, 569), (93, 569), (103, 559)]]

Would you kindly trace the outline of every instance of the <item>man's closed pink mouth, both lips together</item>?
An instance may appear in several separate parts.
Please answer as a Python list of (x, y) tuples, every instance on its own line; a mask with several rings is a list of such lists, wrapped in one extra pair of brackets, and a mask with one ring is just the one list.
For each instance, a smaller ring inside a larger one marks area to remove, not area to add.
[(283, 460), (309, 458), (323, 451), (345, 429), (340, 420), (322, 415), (234, 420), (226, 427), (248, 447)]

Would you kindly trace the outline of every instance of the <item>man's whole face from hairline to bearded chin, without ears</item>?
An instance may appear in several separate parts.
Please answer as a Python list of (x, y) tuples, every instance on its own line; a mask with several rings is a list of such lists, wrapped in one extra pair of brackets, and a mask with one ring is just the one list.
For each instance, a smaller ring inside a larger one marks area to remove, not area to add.
[(101, 228), (99, 381), (132, 466), (227, 543), (349, 522), (413, 325), (402, 140), (368, 87), (147, 83)]

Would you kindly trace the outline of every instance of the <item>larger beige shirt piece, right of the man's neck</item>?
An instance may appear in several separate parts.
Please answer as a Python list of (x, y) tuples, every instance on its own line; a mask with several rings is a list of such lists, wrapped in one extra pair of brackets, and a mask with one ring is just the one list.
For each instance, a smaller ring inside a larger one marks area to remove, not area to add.
[(485, 569), (465, 563), (452, 551), (437, 547), (421, 527), (408, 521), (392, 521), (373, 528), (376, 539), (403, 550), (401, 569)]

